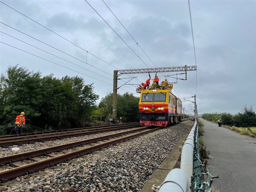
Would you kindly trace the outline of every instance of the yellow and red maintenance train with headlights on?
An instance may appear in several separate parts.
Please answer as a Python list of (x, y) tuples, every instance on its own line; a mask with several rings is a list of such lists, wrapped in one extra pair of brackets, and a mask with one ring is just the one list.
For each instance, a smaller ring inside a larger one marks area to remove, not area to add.
[(168, 124), (181, 122), (182, 102), (171, 90), (172, 84), (165, 83), (158, 88), (137, 89), (137, 92), (140, 92), (141, 125), (166, 127)]

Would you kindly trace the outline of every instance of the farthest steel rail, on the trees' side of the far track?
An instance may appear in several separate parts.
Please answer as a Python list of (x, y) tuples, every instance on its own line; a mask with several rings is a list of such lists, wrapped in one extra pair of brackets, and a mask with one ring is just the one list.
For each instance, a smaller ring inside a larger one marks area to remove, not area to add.
[(68, 132), (68, 131), (78, 131), (78, 130), (89, 130), (89, 129), (104, 129), (109, 127), (120, 127), (125, 125), (140, 125), (140, 123), (126, 123), (126, 124), (117, 124), (117, 125), (101, 125), (95, 127), (83, 127), (83, 128), (76, 128), (76, 129), (61, 129), (61, 130), (54, 130), (54, 131), (44, 131), (44, 132), (35, 132), (35, 133), (23, 133), (19, 134), (19, 136), (15, 135), (4, 135), (0, 136), (0, 140), (3, 138), (10, 138), (10, 137), (20, 137), (20, 136), (29, 136), (29, 135), (40, 135), (40, 134), (47, 134), (47, 133), (58, 133), (58, 132)]

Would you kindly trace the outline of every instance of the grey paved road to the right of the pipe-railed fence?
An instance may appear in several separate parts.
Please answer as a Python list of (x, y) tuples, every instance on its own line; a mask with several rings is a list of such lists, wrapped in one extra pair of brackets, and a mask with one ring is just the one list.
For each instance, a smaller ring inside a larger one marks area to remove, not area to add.
[(219, 175), (220, 192), (256, 191), (256, 139), (204, 120), (204, 143), (210, 151), (208, 169)]

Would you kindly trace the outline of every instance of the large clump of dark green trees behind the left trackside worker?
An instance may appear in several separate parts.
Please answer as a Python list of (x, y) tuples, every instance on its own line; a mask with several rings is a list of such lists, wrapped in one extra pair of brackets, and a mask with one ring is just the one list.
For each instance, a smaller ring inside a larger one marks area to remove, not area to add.
[(6, 76), (0, 78), (0, 134), (11, 132), (21, 111), (28, 126), (24, 132), (35, 131), (29, 125), (52, 129), (84, 126), (98, 98), (92, 84), (84, 84), (83, 78), (58, 79), (53, 74), (41, 78), (39, 72), (9, 66)]

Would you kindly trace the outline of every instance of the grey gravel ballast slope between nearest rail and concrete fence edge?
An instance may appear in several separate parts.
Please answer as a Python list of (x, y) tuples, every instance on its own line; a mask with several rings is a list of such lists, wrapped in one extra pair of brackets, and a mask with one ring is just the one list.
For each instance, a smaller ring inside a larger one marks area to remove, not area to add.
[(194, 125), (185, 121), (86, 156), (38, 171), (41, 177), (20, 176), (0, 191), (140, 191), (175, 144)]

